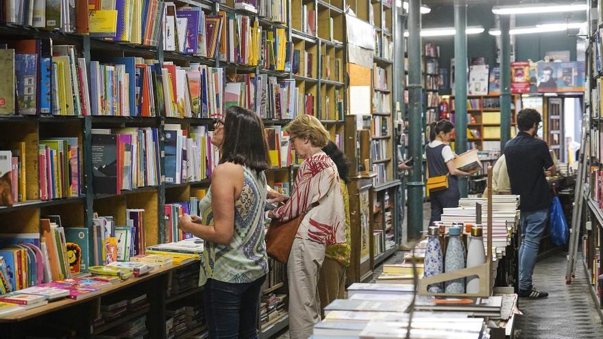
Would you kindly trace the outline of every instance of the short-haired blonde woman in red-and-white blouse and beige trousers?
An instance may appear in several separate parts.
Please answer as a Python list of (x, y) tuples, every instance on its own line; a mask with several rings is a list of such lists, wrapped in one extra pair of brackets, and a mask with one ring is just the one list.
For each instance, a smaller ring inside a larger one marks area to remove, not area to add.
[(299, 165), (291, 198), (269, 192), (271, 202), (286, 203), (268, 213), (269, 218), (289, 221), (308, 211), (299, 223), (287, 262), (289, 281), (289, 334), (306, 339), (321, 320), (318, 293), (319, 272), (325, 259), (325, 245), (345, 242), (345, 212), (337, 167), (322, 148), (329, 134), (314, 116), (297, 116), (286, 127)]

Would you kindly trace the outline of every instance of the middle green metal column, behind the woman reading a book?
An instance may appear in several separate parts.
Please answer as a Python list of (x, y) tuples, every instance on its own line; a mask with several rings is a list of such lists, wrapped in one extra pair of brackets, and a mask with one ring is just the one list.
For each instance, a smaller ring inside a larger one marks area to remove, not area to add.
[[(467, 0), (454, 0), (454, 144), (467, 151)], [(460, 197), (467, 197), (467, 177), (458, 178)]]

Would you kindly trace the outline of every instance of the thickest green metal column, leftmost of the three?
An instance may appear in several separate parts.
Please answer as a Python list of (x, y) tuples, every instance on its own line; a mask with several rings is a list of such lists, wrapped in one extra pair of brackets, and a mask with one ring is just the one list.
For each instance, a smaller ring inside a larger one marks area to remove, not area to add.
[[(423, 88), (421, 88), (421, 0), (408, 6), (408, 103), (409, 138), (413, 170), (408, 181), (408, 241), (421, 238), (423, 231)], [(399, 57), (397, 57), (399, 58)]]

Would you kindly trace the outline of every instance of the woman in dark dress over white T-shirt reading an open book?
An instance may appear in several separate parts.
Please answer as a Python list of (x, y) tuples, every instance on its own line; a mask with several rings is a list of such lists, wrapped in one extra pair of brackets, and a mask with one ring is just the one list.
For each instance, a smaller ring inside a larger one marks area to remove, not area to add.
[(438, 122), (432, 122), (428, 125), (429, 140), (425, 154), (427, 156), (427, 166), (429, 177), (439, 177), (448, 175), (448, 188), (430, 192), (431, 218), (429, 225), (434, 221), (439, 221), (444, 208), (458, 207), (460, 192), (458, 191), (458, 175), (471, 175), (469, 172), (458, 171), (454, 168), (452, 160), (456, 155), (450, 148), (450, 139), (454, 134), (454, 125), (447, 120), (442, 119)]

